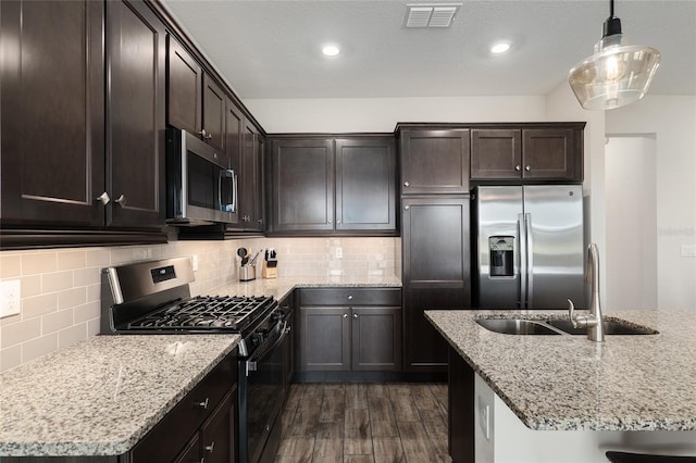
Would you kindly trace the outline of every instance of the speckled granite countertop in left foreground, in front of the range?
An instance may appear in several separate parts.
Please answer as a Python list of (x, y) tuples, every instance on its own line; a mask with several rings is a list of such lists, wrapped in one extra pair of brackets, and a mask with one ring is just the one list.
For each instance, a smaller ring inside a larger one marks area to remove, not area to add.
[(238, 341), (97, 336), (10, 370), (0, 375), (0, 455), (125, 453)]

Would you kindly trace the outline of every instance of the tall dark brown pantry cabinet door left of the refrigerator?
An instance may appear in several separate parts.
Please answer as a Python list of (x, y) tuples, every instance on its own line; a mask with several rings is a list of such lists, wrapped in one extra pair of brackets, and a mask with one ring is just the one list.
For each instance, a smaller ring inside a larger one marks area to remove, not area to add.
[(426, 310), (471, 308), (468, 196), (402, 200), (403, 370), (444, 373), (447, 341)]

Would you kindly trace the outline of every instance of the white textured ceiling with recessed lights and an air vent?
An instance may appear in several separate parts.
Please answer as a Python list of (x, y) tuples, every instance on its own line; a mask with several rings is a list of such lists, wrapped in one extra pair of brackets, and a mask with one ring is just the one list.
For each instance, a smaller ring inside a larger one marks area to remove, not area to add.
[[(243, 100), (546, 95), (609, 16), (608, 0), (463, 0), (451, 28), (406, 29), (406, 5), (427, 1), (161, 2)], [(696, 0), (617, 0), (614, 14), (662, 54), (650, 93), (696, 95)], [(493, 57), (499, 39), (512, 49)], [(328, 41), (339, 57), (320, 53)]]

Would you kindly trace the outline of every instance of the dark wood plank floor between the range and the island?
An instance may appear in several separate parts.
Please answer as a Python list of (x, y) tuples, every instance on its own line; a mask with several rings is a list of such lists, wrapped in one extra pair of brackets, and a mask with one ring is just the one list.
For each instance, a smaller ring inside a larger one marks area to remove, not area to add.
[(275, 462), (451, 462), (445, 384), (295, 384)]

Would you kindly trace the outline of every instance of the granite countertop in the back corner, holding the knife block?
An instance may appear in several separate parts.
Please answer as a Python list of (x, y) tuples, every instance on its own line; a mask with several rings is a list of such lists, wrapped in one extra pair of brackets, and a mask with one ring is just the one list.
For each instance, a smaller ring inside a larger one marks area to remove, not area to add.
[(288, 277), (257, 278), (251, 281), (236, 281), (221, 286), (212, 291), (214, 295), (231, 296), (273, 296), (281, 300), (297, 288), (400, 288), (401, 280), (396, 276), (326, 276), (326, 277)]

